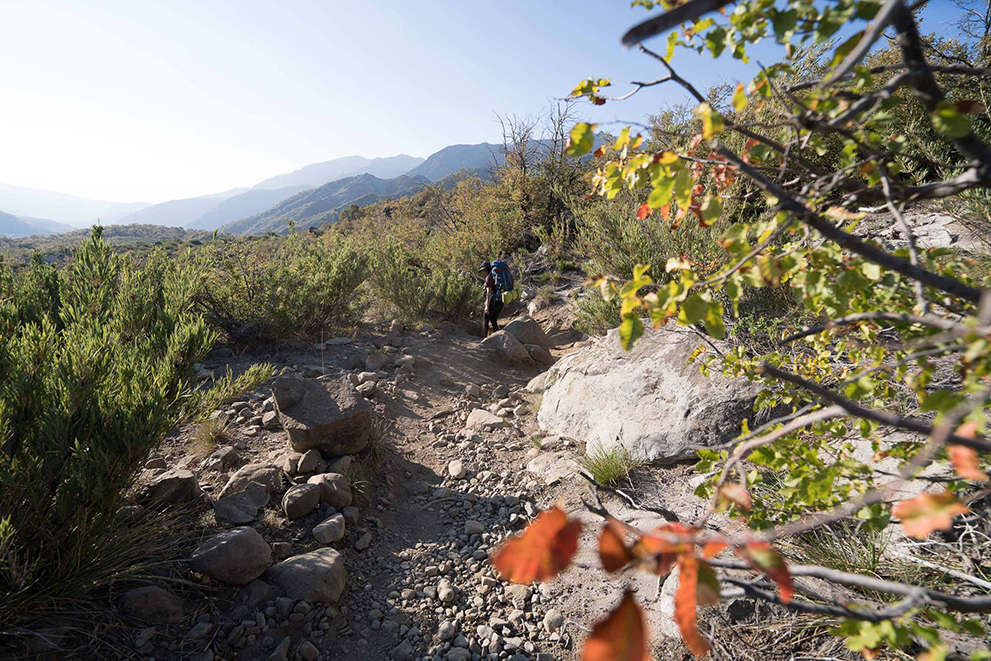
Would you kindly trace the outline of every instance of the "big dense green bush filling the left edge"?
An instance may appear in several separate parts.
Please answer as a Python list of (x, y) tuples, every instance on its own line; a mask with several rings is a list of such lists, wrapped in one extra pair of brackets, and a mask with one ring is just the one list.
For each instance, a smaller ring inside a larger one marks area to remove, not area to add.
[(199, 274), (114, 255), (101, 228), (63, 272), (0, 266), (0, 620), (76, 599), (141, 560), (125, 493), (213, 341)]

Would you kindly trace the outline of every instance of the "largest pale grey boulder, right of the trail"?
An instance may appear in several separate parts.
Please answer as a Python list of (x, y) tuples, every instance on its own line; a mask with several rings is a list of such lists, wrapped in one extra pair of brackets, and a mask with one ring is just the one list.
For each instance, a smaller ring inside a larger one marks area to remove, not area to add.
[[(674, 461), (736, 436), (758, 388), (688, 359), (708, 343), (691, 330), (647, 330), (623, 351), (612, 330), (547, 371), (541, 429), (585, 441), (589, 453), (622, 447), (635, 459)], [(718, 345), (717, 345), (718, 346)]]

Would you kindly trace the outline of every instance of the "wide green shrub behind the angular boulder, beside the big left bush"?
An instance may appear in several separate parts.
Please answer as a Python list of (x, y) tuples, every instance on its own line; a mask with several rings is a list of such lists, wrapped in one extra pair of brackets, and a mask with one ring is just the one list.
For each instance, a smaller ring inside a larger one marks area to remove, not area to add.
[(360, 319), (367, 258), (351, 241), (297, 233), (216, 241), (198, 261), (200, 300), (234, 341), (312, 338)]

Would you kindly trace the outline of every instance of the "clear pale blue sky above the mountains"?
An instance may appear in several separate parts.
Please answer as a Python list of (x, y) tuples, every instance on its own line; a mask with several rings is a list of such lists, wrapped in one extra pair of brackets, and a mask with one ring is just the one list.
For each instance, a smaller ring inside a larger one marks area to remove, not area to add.
[[(926, 28), (950, 7), (935, 0)], [(645, 15), (623, 0), (0, 0), (0, 182), (159, 202), (496, 141), (496, 115), (540, 112), (589, 75), (617, 91), (659, 77), (619, 47)], [(701, 86), (753, 74), (675, 64)], [(663, 86), (581, 110), (642, 120), (682, 98)]]

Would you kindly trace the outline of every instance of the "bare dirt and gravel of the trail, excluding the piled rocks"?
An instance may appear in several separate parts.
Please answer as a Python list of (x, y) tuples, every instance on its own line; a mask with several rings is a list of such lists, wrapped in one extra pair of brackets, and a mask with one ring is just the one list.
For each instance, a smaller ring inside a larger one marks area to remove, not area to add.
[[(553, 323), (541, 316), (545, 328)], [(548, 330), (553, 336), (554, 329)], [(303, 374), (317, 367), (344, 373), (359, 369), (364, 356), (376, 350), (375, 337), (362, 335), (321, 351), (271, 358)], [(556, 339), (574, 338), (558, 332)], [(646, 595), (648, 603), (660, 600), (656, 578), (608, 581), (600, 572), (595, 552), (599, 522), (582, 506), (584, 483), (571, 475), (580, 448), (568, 439), (541, 439), (535, 422), (539, 395), (525, 390), (543, 368), (496, 363), (479, 350), (478, 340), (446, 325), (427, 332), (408, 330), (394, 343), (397, 353), (415, 357), (415, 369), (400, 370), (380, 381), (371, 399), (384, 433), (376, 444), (377, 456), (365, 457), (367, 470), (352, 478), (358, 520), (347, 526), (344, 539), (333, 544), (344, 554), (348, 573), (338, 604), (320, 605), (302, 619), (286, 620), (284, 614), (276, 614), (275, 591), (251, 597), (248, 589), (223, 588), (210, 593), (208, 600), (189, 591), (183, 595), (187, 617), (178, 625), (156, 627), (146, 645), (158, 647), (144, 658), (267, 660), (274, 650), (273, 661), (571, 660), (579, 658), (587, 628), (618, 601), (626, 585)], [(554, 353), (559, 356), (569, 348)], [(243, 369), (263, 359), (227, 358), (208, 367)], [(260, 389), (253, 401), (266, 394)], [(505, 426), (464, 429), (470, 410), (490, 408), (505, 399), (513, 408), (522, 405), (518, 415), (505, 418)], [(238, 448), (239, 455), (231, 470), (253, 462), (281, 465), (291, 452), (282, 431), (254, 437), (243, 432), (235, 426), (228, 433), (227, 442)], [(190, 430), (170, 439), (166, 462), (195, 469), (202, 454), (195, 455), (191, 443)], [(451, 475), (455, 460), (463, 466), (463, 477)], [(528, 465), (532, 470), (527, 470)], [(214, 496), (227, 480), (227, 473), (198, 473), (201, 486)], [(652, 480), (646, 491), (657, 498), (653, 502), (676, 510), (690, 506), (683, 470), (662, 472)], [(316, 511), (288, 521), (278, 501), (273, 497), (252, 526), (270, 544), (290, 544), (293, 555), (321, 548), (311, 530), (327, 513)], [(575, 567), (548, 584), (503, 583), (488, 560), (491, 550), (554, 503), (562, 503), (588, 524)], [(619, 499), (607, 503), (617, 514), (643, 521), (647, 527), (657, 521), (656, 515), (630, 510)], [(219, 529), (209, 510), (203, 512), (200, 525), (201, 539)], [(182, 568), (176, 573), (192, 581), (204, 580)], [(204, 615), (212, 625), (211, 637), (191, 640), (189, 628), (204, 621)], [(655, 632), (670, 629), (670, 622), (660, 615), (652, 618)], [(255, 620), (259, 626), (252, 627)], [(242, 633), (235, 635), (239, 625)], [(286, 637), (291, 640), (283, 657), (278, 648)], [(664, 643), (663, 649), (667, 651), (659, 658), (680, 658), (683, 651), (680, 644)]]

